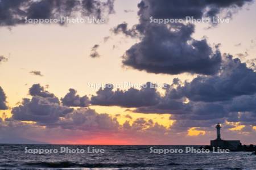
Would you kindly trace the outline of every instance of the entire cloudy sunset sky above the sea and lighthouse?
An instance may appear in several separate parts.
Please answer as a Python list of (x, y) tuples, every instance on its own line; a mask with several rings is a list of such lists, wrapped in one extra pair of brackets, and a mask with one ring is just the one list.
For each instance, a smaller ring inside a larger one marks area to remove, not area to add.
[[(24, 22), (77, 15), (106, 22)], [(256, 144), (255, 20), (253, 0), (0, 0), (0, 143), (208, 145), (220, 122)]]

